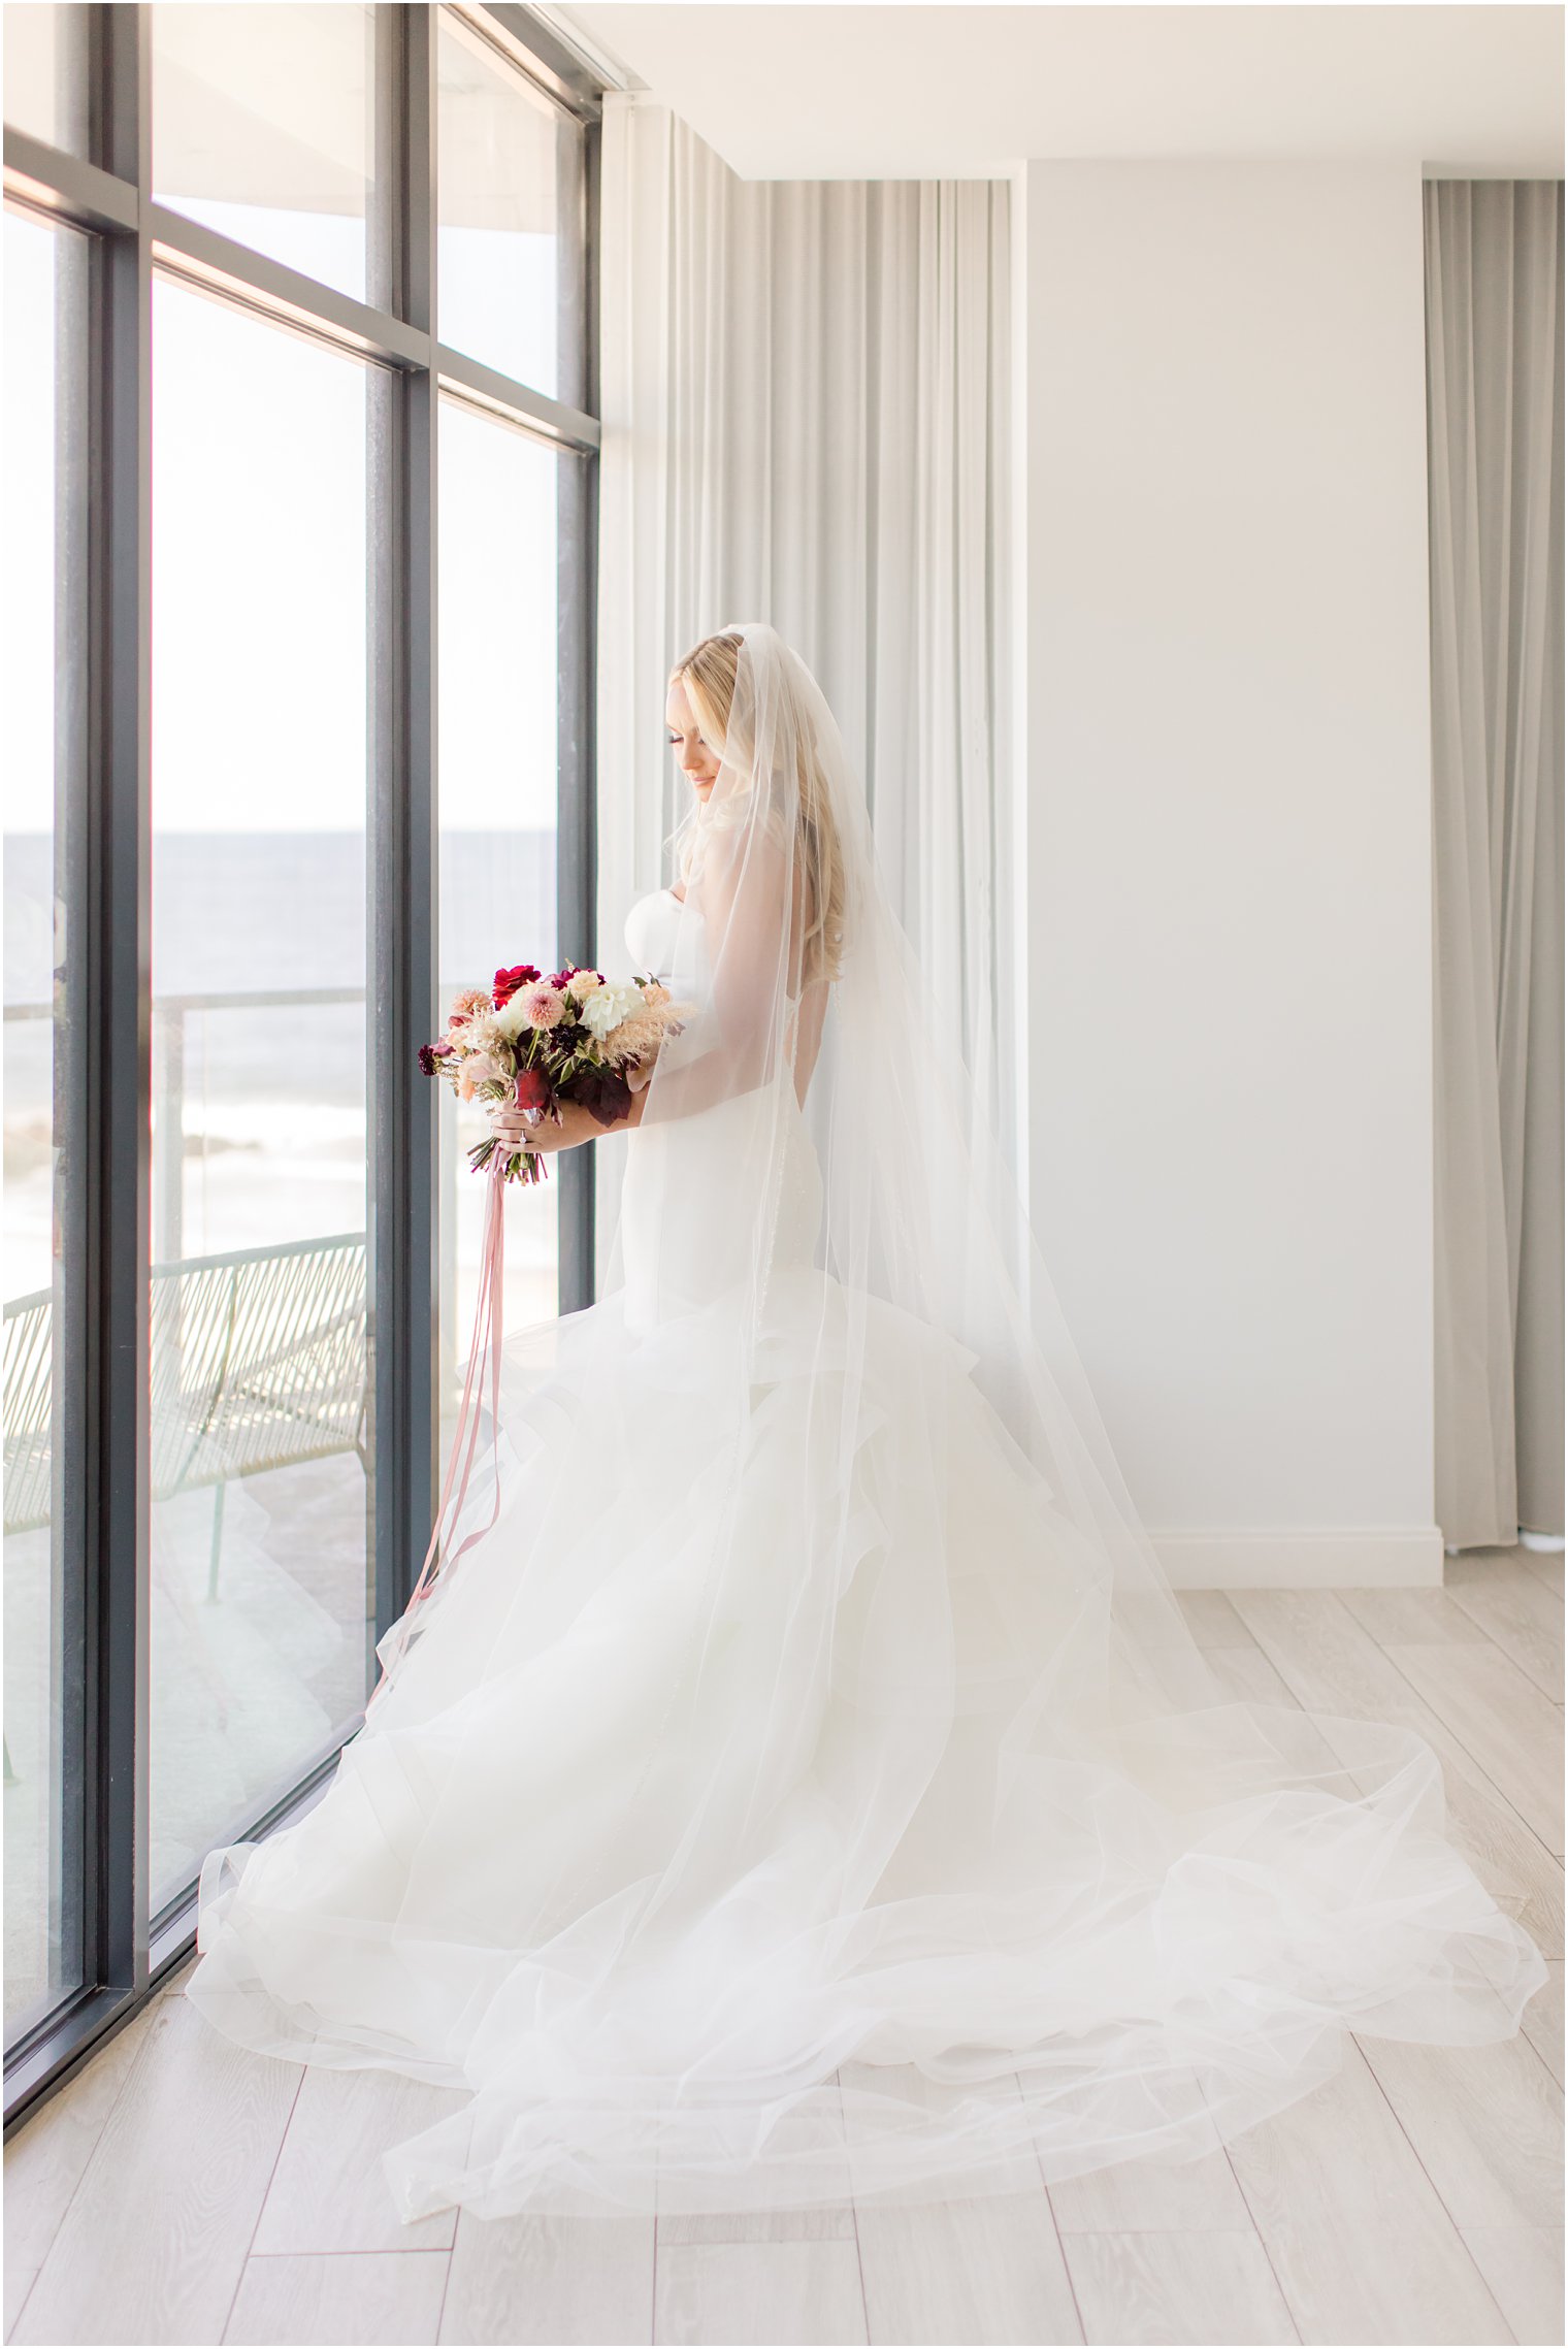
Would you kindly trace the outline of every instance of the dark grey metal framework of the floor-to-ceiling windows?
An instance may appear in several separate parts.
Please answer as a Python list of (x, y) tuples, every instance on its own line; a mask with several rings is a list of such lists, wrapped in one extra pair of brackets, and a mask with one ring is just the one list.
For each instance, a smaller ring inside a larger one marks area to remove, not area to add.
[[(378, 376), (371, 437), (371, 759), (366, 1052), (376, 1635), (401, 1614), (437, 1503), (437, 1097), (413, 1048), (437, 1031), (437, 411), (441, 397), (561, 451), (559, 503), (559, 935), (594, 961), (594, 545), (599, 496), (601, 87), (526, 7), (451, 7), (498, 61), (582, 127), (582, 183), (563, 218), (561, 298), (582, 352), (584, 406), (451, 350), (437, 336), (439, 7), (373, 9), (376, 188), (369, 291), (352, 301), (153, 202), (150, 47), (143, 0), (85, 7), (92, 160), (7, 124), (5, 197), (92, 237), (87, 839), (73, 944), (73, 1024), (85, 1038), (77, 1250), (85, 1346), (66, 1482), (80, 1492), (82, 1985), (5, 2062), (5, 2126), (23, 2121), (153, 1994), (195, 1943), (195, 1884), (148, 1914), (150, 1503), (148, 1290), (153, 1174), (150, 980), (150, 310), (157, 272), (202, 284)], [(73, 909), (75, 911), (75, 909)], [(80, 977), (77, 977), (80, 970)], [(594, 1294), (592, 1151), (561, 1160), (559, 1304)], [(75, 1694), (75, 1691), (73, 1691)], [(319, 1797), (340, 1745), (317, 1757), (246, 1835)]]

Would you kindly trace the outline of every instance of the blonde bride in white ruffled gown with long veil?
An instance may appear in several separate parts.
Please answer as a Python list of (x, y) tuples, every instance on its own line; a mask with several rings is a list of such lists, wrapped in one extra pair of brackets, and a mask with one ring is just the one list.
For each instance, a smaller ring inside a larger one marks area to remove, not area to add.
[(1350, 2030), (1509, 2037), (1547, 1968), (1432, 1750), (1197, 1651), (812, 674), (725, 627), (667, 721), (627, 949), (695, 1010), (606, 1292), (505, 1339), (467, 1539), (324, 1799), (209, 1856), (185, 1994), (467, 2093), (383, 2156), (406, 2220), (1014, 2192)]

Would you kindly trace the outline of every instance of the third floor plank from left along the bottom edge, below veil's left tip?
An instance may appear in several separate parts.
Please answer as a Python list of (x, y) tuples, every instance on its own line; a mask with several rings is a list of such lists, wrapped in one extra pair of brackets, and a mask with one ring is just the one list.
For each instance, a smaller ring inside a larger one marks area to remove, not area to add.
[(444, 2342), (650, 2342), (650, 2217), (458, 2213)]

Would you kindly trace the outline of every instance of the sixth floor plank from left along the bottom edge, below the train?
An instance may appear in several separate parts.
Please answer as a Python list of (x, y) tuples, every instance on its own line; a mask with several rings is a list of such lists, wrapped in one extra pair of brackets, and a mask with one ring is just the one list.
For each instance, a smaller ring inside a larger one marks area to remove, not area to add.
[(873, 2342), (1080, 2342), (1045, 2187), (857, 2210)]

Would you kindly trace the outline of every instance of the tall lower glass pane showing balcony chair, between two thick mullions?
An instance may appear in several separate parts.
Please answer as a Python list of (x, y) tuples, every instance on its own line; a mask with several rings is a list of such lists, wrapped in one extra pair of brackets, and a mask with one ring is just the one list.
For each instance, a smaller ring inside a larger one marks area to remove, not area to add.
[(157, 1910), (364, 1703), (373, 1539), (369, 378), (162, 280), (153, 352)]

